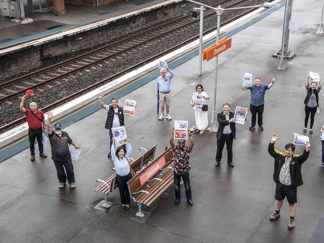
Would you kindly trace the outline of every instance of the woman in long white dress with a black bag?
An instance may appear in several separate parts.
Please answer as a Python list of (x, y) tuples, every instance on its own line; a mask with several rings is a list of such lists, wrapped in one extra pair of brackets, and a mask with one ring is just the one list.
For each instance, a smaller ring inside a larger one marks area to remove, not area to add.
[(208, 117), (207, 117), (207, 111), (202, 111), (201, 107), (197, 107), (194, 105), (193, 99), (194, 96), (201, 96), (202, 99), (202, 105), (207, 105), (206, 100), (209, 100), (209, 96), (206, 94), (206, 92), (203, 91), (203, 87), (201, 84), (198, 84), (196, 86), (196, 93), (193, 93), (193, 96), (190, 100), (190, 104), (194, 109), (194, 118), (196, 120), (196, 126), (197, 129), (200, 130), (199, 134), (204, 133), (206, 127), (208, 126)]

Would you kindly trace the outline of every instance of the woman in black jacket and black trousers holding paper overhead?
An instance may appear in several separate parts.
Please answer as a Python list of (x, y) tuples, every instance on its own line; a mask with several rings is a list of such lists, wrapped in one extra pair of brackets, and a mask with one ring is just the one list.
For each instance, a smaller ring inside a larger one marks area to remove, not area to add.
[(311, 87), (309, 84), (309, 79), (310, 79), (310, 75), (307, 76), (306, 79), (306, 90), (307, 90), (307, 96), (305, 98), (304, 104), (305, 104), (305, 127), (304, 127), (304, 132), (307, 131), (307, 123), (308, 123), (308, 119), (310, 117), (311, 114), (311, 125), (310, 125), (310, 134), (313, 133), (313, 124), (314, 124), (314, 117), (315, 117), (315, 113), (317, 111), (317, 107), (319, 106), (319, 93), (321, 91), (321, 87), (322, 87), (322, 79), (320, 78), (320, 82), (319, 82), (319, 87), (317, 87), (317, 83), (316, 82), (312, 82)]

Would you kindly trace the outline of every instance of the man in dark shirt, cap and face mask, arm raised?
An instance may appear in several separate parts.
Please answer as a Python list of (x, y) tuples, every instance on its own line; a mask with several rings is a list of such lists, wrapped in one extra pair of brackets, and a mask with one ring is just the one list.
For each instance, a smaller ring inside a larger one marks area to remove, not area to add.
[[(66, 131), (62, 131), (61, 123), (56, 123), (54, 129), (51, 128), (51, 119), (53, 114), (47, 113), (47, 133), (49, 143), (51, 144), (52, 159), (57, 172), (58, 187), (63, 188), (66, 180), (70, 184), (70, 188), (75, 188), (75, 178), (73, 171), (73, 164), (71, 159), (71, 153), (69, 145), (72, 144), (75, 148), (79, 148), (78, 145), (70, 138)], [(65, 168), (65, 171), (64, 171)]]

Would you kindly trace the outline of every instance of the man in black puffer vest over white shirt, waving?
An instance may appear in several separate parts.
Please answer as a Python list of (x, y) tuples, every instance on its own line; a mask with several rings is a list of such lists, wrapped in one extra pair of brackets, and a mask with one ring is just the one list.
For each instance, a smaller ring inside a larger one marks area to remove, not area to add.
[[(117, 98), (111, 99), (111, 104), (106, 106), (102, 101), (104, 97), (103, 94), (99, 95), (99, 103), (103, 109), (107, 111), (107, 120), (105, 124), (105, 128), (109, 129), (109, 136), (110, 136), (110, 146), (109, 146), (109, 153), (108, 157), (111, 157), (111, 145), (113, 144), (113, 132), (111, 128), (123, 126), (124, 124), (124, 109), (118, 106)], [(125, 145), (123, 145), (125, 147)]]

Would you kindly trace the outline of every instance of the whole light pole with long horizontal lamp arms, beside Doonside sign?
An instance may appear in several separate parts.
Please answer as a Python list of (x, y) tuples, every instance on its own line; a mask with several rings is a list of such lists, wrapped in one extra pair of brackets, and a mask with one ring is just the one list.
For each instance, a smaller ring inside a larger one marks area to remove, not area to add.
[[(236, 10), (236, 9), (244, 9), (244, 8), (259, 8), (259, 7), (277, 7), (280, 6), (280, 4), (271, 4), (271, 3), (263, 3), (263, 4), (259, 4), (259, 5), (254, 5), (254, 6), (244, 6), (244, 7), (232, 7), (232, 8), (222, 8), (220, 5), (218, 5), (218, 7), (212, 7), (194, 0), (187, 0), (196, 4), (199, 4), (201, 6), (204, 7), (208, 7), (211, 8), (213, 10), (216, 11), (217, 14), (217, 35), (216, 35), (216, 44), (218, 44), (219, 41), (219, 31), (220, 31), (220, 17), (221, 14), (223, 13), (223, 11), (226, 10)], [(201, 32), (201, 30), (200, 30)], [(202, 38), (201, 38), (201, 42), (202, 42)], [(201, 43), (202, 45), (202, 43)], [(201, 56), (199, 55), (199, 58), (201, 59)], [(216, 121), (216, 89), (217, 89), (217, 68), (218, 68), (218, 56), (215, 57), (215, 82), (213, 83), (213, 112), (212, 112), (212, 119), (209, 123), (209, 127), (208, 130), (209, 131), (217, 131), (217, 121)], [(199, 60), (200, 62), (201, 60)]]

